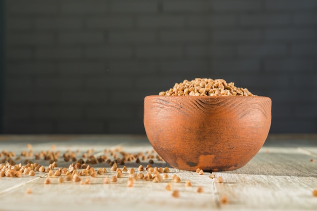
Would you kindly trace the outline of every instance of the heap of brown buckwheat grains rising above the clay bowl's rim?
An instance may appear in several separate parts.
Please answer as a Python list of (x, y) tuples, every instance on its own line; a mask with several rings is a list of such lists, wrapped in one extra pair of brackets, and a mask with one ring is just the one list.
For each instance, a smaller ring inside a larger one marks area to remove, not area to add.
[(195, 78), (175, 83), (175, 86), (160, 96), (256, 96), (248, 89), (234, 87), (233, 82), (227, 83), (224, 79)]

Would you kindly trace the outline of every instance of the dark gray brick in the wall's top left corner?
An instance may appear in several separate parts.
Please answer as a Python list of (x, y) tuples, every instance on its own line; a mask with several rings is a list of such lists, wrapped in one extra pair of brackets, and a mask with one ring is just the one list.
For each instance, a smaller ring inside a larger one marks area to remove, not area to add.
[(6, 1), (8, 14), (33, 15), (33, 14), (55, 14), (57, 2), (51, 1)]

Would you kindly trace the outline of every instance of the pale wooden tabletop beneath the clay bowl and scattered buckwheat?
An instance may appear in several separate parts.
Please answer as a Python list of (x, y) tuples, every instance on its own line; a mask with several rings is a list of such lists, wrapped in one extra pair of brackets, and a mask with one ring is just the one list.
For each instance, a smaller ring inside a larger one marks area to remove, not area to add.
[[(144, 154), (152, 149), (145, 136), (0, 136), (0, 151), (14, 151), (20, 156), (21, 151), (28, 150), (27, 144), (32, 145), (33, 153), (53, 150), (52, 145), (61, 155), (67, 150), (79, 150), (78, 158), (88, 149), (94, 149), (96, 157), (104, 154), (105, 149), (118, 147), (125, 152)], [(106, 167), (106, 174), (97, 178), (80, 176), (83, 180), (90, 178), (90, 185), (58, 183), (57, 177), (51, 178), (52, 183), (47, 185), (44, 181), (48, 174), (41, 172), (34, 177), (3, 177), (0, 210), (317, 210), (317, 197), (312, 196), (317, 189), (316, 158), (317, 136), (271, 135), (246, 166), (215, 172), (215, 179), (208, 172), (199, 175), (170, 168), (169, 178), (159, 183), (137, 180), (133, 187), (127, 187), (129, 174), (123, 172), (124, 177), (117, 182), (103, 184), (105, 177), (115, 175), (106, 162), (92, 165), (96, 170)], [(20, 162), (25, 159), (49, 165), (49, 161), (34, 160), (34, 156), (21, 157)], [(155, 158), (153, 161), (153, 167), (168, 166), (164, 161)], [(57, 161), (58, 167), (68, 167), (70, 163), (62, 158)], [(136, 173), (140, 164), (145, 167), (148, 160), (125, 163), (128, 169), (135, 168)], [(174, 174), (180, 177), (180, 183), (171, 180)], [(222, 177), (223, 183), (217, 183), (218, 177)], [(185, 186), (187, 180), (191, 187)], [(179, 191), (178, 198), (165, 189), (168, 183)], [(203, 193), (196, 192), (199, 186), (203, 187)], [(28, 188), (32, 193), (25, 192)], [(227, 197), (227, 203), (221, 202), (223, 196)]]

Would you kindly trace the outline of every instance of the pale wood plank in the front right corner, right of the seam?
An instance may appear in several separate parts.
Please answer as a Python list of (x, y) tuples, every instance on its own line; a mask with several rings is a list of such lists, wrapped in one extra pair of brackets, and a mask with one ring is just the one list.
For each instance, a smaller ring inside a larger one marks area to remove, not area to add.
[[(226, 195), (224, 210), (313, 210), (317, 200), (314, 177), (289, 177), (217, 173), (224, 183), (215, 183), (217, 194)], [(216, 180), (214, 179), (213, 182)]]

